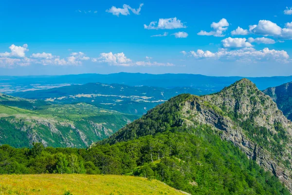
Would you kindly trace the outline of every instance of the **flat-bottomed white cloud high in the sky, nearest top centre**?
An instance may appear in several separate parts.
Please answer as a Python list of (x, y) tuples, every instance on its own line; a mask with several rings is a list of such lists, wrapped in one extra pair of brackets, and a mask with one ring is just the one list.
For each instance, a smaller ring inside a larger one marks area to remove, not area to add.
[(151, 21), (147, 26), (144, 24), (145, 29), (177, 29), (177, 28), (186, 28), (181, 20), (177, 18), (169, 18), (169, 19), (159, 19), (158, 25), (156, 26), (157, 21)]

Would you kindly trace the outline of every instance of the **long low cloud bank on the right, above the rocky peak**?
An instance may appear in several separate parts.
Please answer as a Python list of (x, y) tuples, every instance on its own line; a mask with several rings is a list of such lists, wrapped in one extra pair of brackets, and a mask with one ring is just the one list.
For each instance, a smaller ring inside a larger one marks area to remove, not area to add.
[(242, 48), (237, 50), (229, 50), (225, 48), (219, 49), (218, 52), (210, 51), (190, 51), (188, 54), (196, 59), (226, 59), (226, 60), (276, 60), (279, 62), (288, 62), (289, 55), (284, 50), (270, 50), (264, 48), (263, 50), (256, 50), (254, 48)]

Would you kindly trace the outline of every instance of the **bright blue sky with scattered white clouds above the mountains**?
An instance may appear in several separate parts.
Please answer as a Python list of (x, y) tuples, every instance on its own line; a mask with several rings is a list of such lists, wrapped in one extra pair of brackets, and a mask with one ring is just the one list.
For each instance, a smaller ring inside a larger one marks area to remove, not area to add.
[(10, 0), (0, 75), (292, 75), (292, 1)]

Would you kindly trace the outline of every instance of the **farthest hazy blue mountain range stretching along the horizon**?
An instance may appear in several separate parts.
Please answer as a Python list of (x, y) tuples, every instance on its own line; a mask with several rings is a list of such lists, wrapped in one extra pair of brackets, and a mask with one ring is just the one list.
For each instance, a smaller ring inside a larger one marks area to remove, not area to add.
[[(141, 73), (115, 73), (109, 75), (80, 74), (62, 76), (0, 76), (0, 92), (14, 93), (27, 90), (48, 89), (72, 84), (106, 83), (125, 84), (129, 86), (152, 86), (162, 88), (192, 87), (204, 94), (217, 92), (234, 83), (242, 77), (210, 77), (194, 74), (141, 74)], [(281, 85), (292, 80), (289, 77), (258, 77), (248, 78), (256, 86), (264, 90), (271, 86)]]

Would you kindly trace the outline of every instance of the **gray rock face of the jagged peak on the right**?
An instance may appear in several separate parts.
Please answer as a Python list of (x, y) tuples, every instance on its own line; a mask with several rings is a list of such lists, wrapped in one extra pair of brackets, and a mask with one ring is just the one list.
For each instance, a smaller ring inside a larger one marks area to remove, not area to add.
[[(234, 115), (237, 116), (236, 119), (232, 117)], [(277, 176), (292, 192), (292, 169), (283, 163), (284, 161), (292, 163), (289, 157), (292, 153), (292, 122), (278, 110), (272, 98), (259, 91), (251, 81), (242, 79), (217, 94), (194, 96), (183, 103), (181, 116), (184, 119), (183, 124), (187, 126), (200, 124), (212, 126), (223, 140), (233, 142), (249, 158), (256, 160), (266, 171)], [(256, 138), (262, 137), (261, 132), (253, 137), (248, 136), (247, 130), (240, 124), (250, 119), (253, 126), (265, 127), (270, 135), (279, 133), (275, 128), (276, 124), (285, 129), (288, 141), (284, 143), (281, 140), (279, 143), (284, 147), (281, 156), (276, 156), (269, 148), (272, 147), (272, 136), (271, 144), (267, 145), (255, 141)]]

